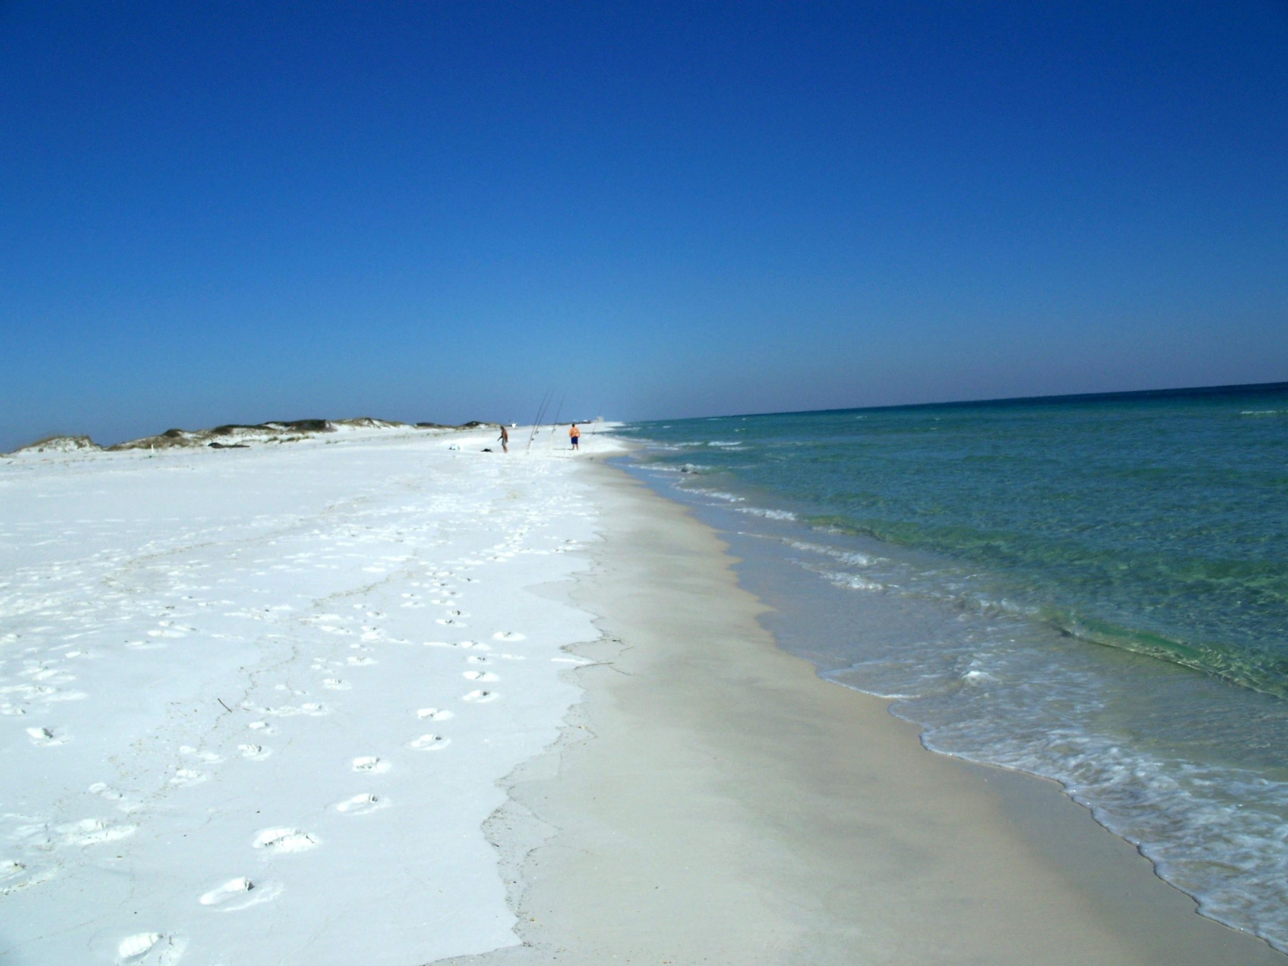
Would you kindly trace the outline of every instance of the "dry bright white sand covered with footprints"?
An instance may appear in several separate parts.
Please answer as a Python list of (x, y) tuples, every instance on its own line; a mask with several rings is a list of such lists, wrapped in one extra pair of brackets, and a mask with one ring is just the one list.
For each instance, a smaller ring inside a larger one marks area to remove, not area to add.
[(0, 961), (514, 942), (482, 827), (578, 696), (599, 505), (495, 435), (0, 461)]

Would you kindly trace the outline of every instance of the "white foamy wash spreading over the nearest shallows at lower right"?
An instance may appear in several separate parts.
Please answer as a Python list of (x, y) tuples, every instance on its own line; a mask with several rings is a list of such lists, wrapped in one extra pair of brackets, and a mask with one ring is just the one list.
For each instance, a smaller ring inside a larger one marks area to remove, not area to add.
[[(951, 603), (948, 594), (940, 599)], [(1099, 653), (998, 601), (942, 626), (953, 630), (889, 635), (866, 659), (824, 676), (896, 699), (891, 710), (922, 725), (933, 751), (1059, 781), (1097, 822), (1139, 844), (1204, 916), (1288, 947), (1288, 782), (1225, 761), (1188, 761), (1171, 739), (1150, 747), (1146, 734), (1128, 738), (1105, 720), (1108, 688), (1141, 702), (1154, 728), (1191, 726), (1193, 711), (1166, 705), (1166, 688), (1154, 690), (1172, 676), (1155, 677), (1148, 663), (1122, 665), (1109, 687)], [(1217, 681), (1211, 694), (1191, 697), (1211, 717), (1209, 738), (1243, 728), (1238, 717), (1224, 720), (1221, 702), (1230, 697)]]

